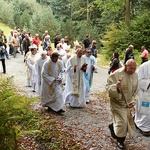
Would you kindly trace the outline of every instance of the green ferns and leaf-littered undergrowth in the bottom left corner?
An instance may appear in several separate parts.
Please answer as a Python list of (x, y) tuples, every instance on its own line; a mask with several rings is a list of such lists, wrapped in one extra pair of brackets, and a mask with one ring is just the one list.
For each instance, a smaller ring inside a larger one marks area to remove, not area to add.
[(30, 142), (39, 150), (83, 150), (63, 128), (61, 119), (32, 110), (31, 103), (37, 98), (19, 95), (12, 81), (0, 76), (0, 149), (27, 150)]

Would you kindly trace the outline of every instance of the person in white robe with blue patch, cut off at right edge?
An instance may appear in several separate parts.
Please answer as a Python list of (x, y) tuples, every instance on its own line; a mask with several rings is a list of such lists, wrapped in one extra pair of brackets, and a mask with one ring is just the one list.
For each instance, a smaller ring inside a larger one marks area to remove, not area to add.
[(150, 61), (138, 68), (138, 81), (138, 101), (134, 122), (142, 135), (150, 136)]

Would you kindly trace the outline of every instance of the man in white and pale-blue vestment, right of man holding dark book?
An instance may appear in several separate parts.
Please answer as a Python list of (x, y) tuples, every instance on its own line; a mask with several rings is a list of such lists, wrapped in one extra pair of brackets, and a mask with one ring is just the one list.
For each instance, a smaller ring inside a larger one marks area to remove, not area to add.
[(85, 80), (86, 80), (86, 102), (89, 102), (89, 92), (90, 92), (90, 88), (92, 85), (92, 81), (93, 81), (93, 72), (95, 70), (95, 57), (93, 55), (91, 55), (92, 52), (90, 49), (86, 49), (85, 50), (85, 54), (83, 55), (83, 57), (86, 60), (87, 65), (87, 69), (86, 69), (86, 74), (85, 74)]

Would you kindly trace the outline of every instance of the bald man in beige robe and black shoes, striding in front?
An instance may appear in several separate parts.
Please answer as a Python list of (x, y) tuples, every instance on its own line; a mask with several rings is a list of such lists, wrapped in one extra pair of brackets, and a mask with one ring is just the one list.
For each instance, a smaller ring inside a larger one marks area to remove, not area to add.
[(138, 75), (136, 62), (129, 59), (125, 66), (112, 73), (107, 80), (106, 89), (110, 97), (113, 123), (109, 125), (111, 136), (117, 139), (117, 147), (125, 149), (127, 132), (133, 137), (134, 124), (131, 109), (137, 99)]

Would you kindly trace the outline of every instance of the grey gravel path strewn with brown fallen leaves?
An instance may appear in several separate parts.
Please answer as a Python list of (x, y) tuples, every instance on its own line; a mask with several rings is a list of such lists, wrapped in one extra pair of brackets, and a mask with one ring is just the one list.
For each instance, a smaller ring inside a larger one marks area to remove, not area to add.
[[(25, 86), (26, 73), (23, 55), (17, 54), (16, 58), (6, 60), (6, 75), (14, 76), (14, 82), (30, 96), (37, 96), (31, 88)], [(0, 65), (0, 72), (2, 68)], [(63, 116), (56, 115), (57, 119), (63, 120), (64, 128), (72, 132), (76, 140), (80, 140), (87, 150), (115, 150), (116, 141), (110, 137), (108, 129), (111, 123), (109, 103), (103, 98), (107, 79), (107, 69), (98, 68), (94, 73), (93, 85), (90, 94), (90, 103), (86, 107), (73, 109), (65, 106), (66, 112)], [(35, 109), (41, 109), (40, 101), (34, 104)], [(135, 129), (135, 140), (126, 138), (125, 144), (128, 150), (149, 150), (150, 139), (143, 137)]]

